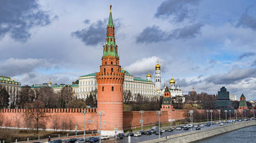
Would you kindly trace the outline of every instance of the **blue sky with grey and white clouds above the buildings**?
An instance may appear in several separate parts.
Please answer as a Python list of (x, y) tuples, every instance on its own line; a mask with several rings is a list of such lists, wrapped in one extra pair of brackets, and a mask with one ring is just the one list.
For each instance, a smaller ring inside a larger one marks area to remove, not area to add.
[(255, 1), (0, 1), (0, 75), (71, 84), (98, 72), (109, 7), (121, 66), (135, 76), (256, 99)]

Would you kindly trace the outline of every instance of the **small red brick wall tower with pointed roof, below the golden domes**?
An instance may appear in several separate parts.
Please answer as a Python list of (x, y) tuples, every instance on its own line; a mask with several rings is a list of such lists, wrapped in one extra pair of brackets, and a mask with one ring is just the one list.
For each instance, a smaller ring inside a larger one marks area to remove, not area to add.
[(164, 91), (164, 99), (163, 99), (161, 111), (169, 111), (169, 110), (174, 110), (174, 108), (173, 108), (173, 103), (171, 102), (170, 90), (168, 86), (166, 86)]

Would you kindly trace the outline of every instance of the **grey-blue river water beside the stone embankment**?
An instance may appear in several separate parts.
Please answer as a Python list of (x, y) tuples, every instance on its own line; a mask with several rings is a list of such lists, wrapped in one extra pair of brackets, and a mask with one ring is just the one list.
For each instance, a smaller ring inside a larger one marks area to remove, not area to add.
[(256, 126), (244, 127), (239, 130), (227, 132), (198, 142), (256, 142)]

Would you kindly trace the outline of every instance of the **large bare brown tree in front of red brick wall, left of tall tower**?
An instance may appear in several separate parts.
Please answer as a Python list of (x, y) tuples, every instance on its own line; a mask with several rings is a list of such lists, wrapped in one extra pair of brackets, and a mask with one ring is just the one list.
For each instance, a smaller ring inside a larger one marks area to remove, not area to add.
[(27, 112), (25, 113), (25, 118), (28, 121), (31, 121), (33, 127), (36, 128), (36, 134), (38, 136), (38, 129), (45, 129), (46, 119), (49, 116), (43, 112), (45, 105), (40, 100), (36, 100), (33, 103), (26, 104)]

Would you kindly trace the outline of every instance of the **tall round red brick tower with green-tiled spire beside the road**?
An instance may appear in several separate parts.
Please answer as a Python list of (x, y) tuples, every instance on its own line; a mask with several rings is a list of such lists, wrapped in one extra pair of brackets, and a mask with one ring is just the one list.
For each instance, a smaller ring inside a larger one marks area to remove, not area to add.
[[(100, 72), (96, 74), (98, 93), (97, 111), (104, 111), (101, 117), (101, 134), (114, 135), (123, 131), (123, 83), (124, 73), (121, 73), (119, 55), (115, 41), (115, 27), (112, 20), (111, 5), (109, 23), (107, 24), (107, 38), (103, 45), (104, 52)], [(105, 124), (103, 122), (105, 121)], [(97, 129), (100, 130), (100, 116), (97, 119)]]

